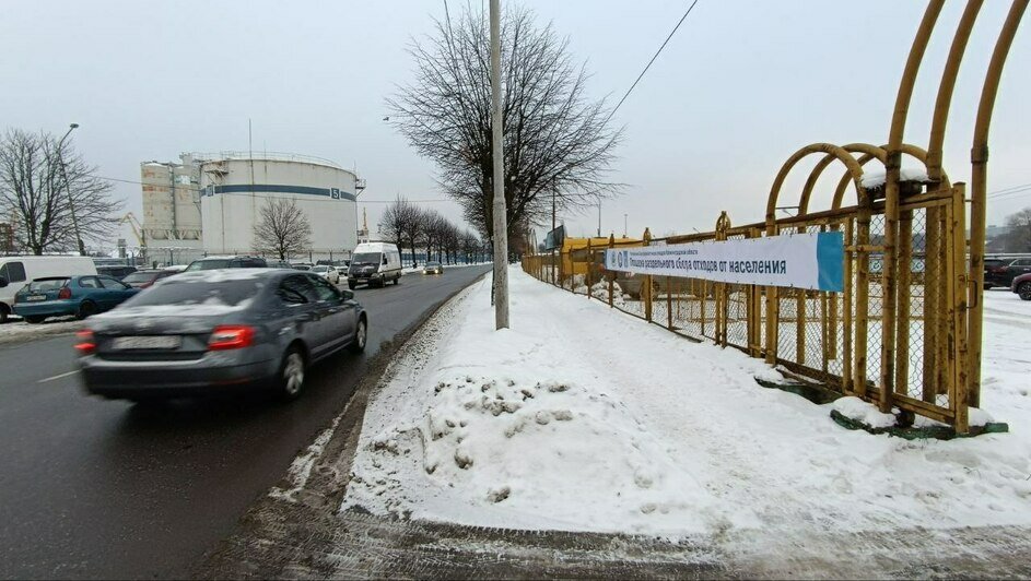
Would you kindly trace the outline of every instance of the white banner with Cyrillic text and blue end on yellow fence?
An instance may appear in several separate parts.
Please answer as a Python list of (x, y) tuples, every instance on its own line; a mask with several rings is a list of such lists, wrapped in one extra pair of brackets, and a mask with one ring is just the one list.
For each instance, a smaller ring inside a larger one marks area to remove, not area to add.
[(610, 271), (839, 293), (844, 289), (844, 263), (840, 232), (605, 251)]

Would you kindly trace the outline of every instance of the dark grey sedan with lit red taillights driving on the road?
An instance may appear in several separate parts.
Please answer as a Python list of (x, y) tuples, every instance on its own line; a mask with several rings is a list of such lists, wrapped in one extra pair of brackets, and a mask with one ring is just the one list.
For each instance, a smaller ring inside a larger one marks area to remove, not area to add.
[(353, 293), (282, 269), (186, 272), (91, 323), (75, 345), (86, 391), (136, 401), (256, 386), (292, 400), (308, 366), (368, 334)]

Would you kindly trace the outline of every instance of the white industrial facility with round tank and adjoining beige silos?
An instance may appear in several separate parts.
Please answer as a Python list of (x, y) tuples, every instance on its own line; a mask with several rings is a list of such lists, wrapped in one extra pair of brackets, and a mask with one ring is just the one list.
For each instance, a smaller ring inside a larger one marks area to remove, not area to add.
[(312, 226), (304, 258), (349, 256), (358, 244), (354, 171), (283, 153), (184, 154), (141, 164), (143, 238), (151, 260), (255, 253), (254, 227), (270, 199), (293, 199)]

